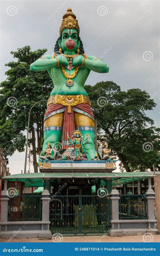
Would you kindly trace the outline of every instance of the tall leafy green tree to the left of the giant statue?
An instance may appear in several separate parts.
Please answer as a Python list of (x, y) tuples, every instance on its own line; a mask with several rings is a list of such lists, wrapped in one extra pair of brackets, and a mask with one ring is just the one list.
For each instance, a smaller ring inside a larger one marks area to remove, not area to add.
[[(47, 100), (50, 96), (53, 83), (48, 72), (33, 73), (30, 71), (30, 64), (46, 52), (47, 49), (32, 52), (30, 46), (18, 48), (17, 51), (11, 52), (17, 61), (5, 64), (10, 67), (5, 72), (7, 78), (1, 82), (0, 90), (0, 146), (4, 148), (5, 159), (16, 150), (24, 151), (26, 139), (22, 132), (28, 125), (29, 110), (35, 102)], [(46, 102), (37, 104), (31, 112), (30, 132), (32, 133), (34, 172), (38, 172), (36, 153), (42, 149), (46, 105)]]

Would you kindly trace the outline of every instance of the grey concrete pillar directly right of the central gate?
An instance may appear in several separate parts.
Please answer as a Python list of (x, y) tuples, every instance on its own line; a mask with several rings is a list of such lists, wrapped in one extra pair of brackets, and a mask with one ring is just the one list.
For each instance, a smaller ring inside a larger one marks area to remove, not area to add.
[(119, 220), (119, 192), (116, 189), (111, 191), (111, 220)]

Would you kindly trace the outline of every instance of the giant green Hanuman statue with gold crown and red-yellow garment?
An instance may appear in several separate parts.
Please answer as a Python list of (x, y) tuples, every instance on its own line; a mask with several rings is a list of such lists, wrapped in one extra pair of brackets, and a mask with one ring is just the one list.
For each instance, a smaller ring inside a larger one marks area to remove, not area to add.
[(91, 160), (96, 155), (95, 122), (84, 84), (90, 71), (107, 73), (109, 67), (103, 60), (84, 54), (78, 21), (70, 8), (63, 15), (59, 32), (54, 54), (41, 57), (30, 66), (34, 72), (47, 70), (54, 84), (44, 118), (43, 151), (48, 141), (53, 147), (60, 140), (62, 149), (68, 149), (67, 135), (79, 130), (89, 136), (83, 153)]

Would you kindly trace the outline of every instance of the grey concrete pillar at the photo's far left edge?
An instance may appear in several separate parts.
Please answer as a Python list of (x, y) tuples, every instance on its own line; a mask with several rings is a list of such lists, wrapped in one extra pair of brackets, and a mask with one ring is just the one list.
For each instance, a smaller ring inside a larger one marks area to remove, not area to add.
[(4, 190), (1, 192), (1, 222), (8, 220), (8, 201), (7, 196), (7, 180), (4, 181)]

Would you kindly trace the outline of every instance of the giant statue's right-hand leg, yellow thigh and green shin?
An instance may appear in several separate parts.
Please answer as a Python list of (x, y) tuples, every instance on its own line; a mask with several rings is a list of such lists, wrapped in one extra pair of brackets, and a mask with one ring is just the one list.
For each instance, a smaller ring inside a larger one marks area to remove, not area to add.
[(90, 117), (74, 112), (75, 129), (82, 131), (84, 139), (89, 136), (89, 143), (83, 144), (83, 154), (87, 152), (88, 160), (95, 159), (95, 122)]

